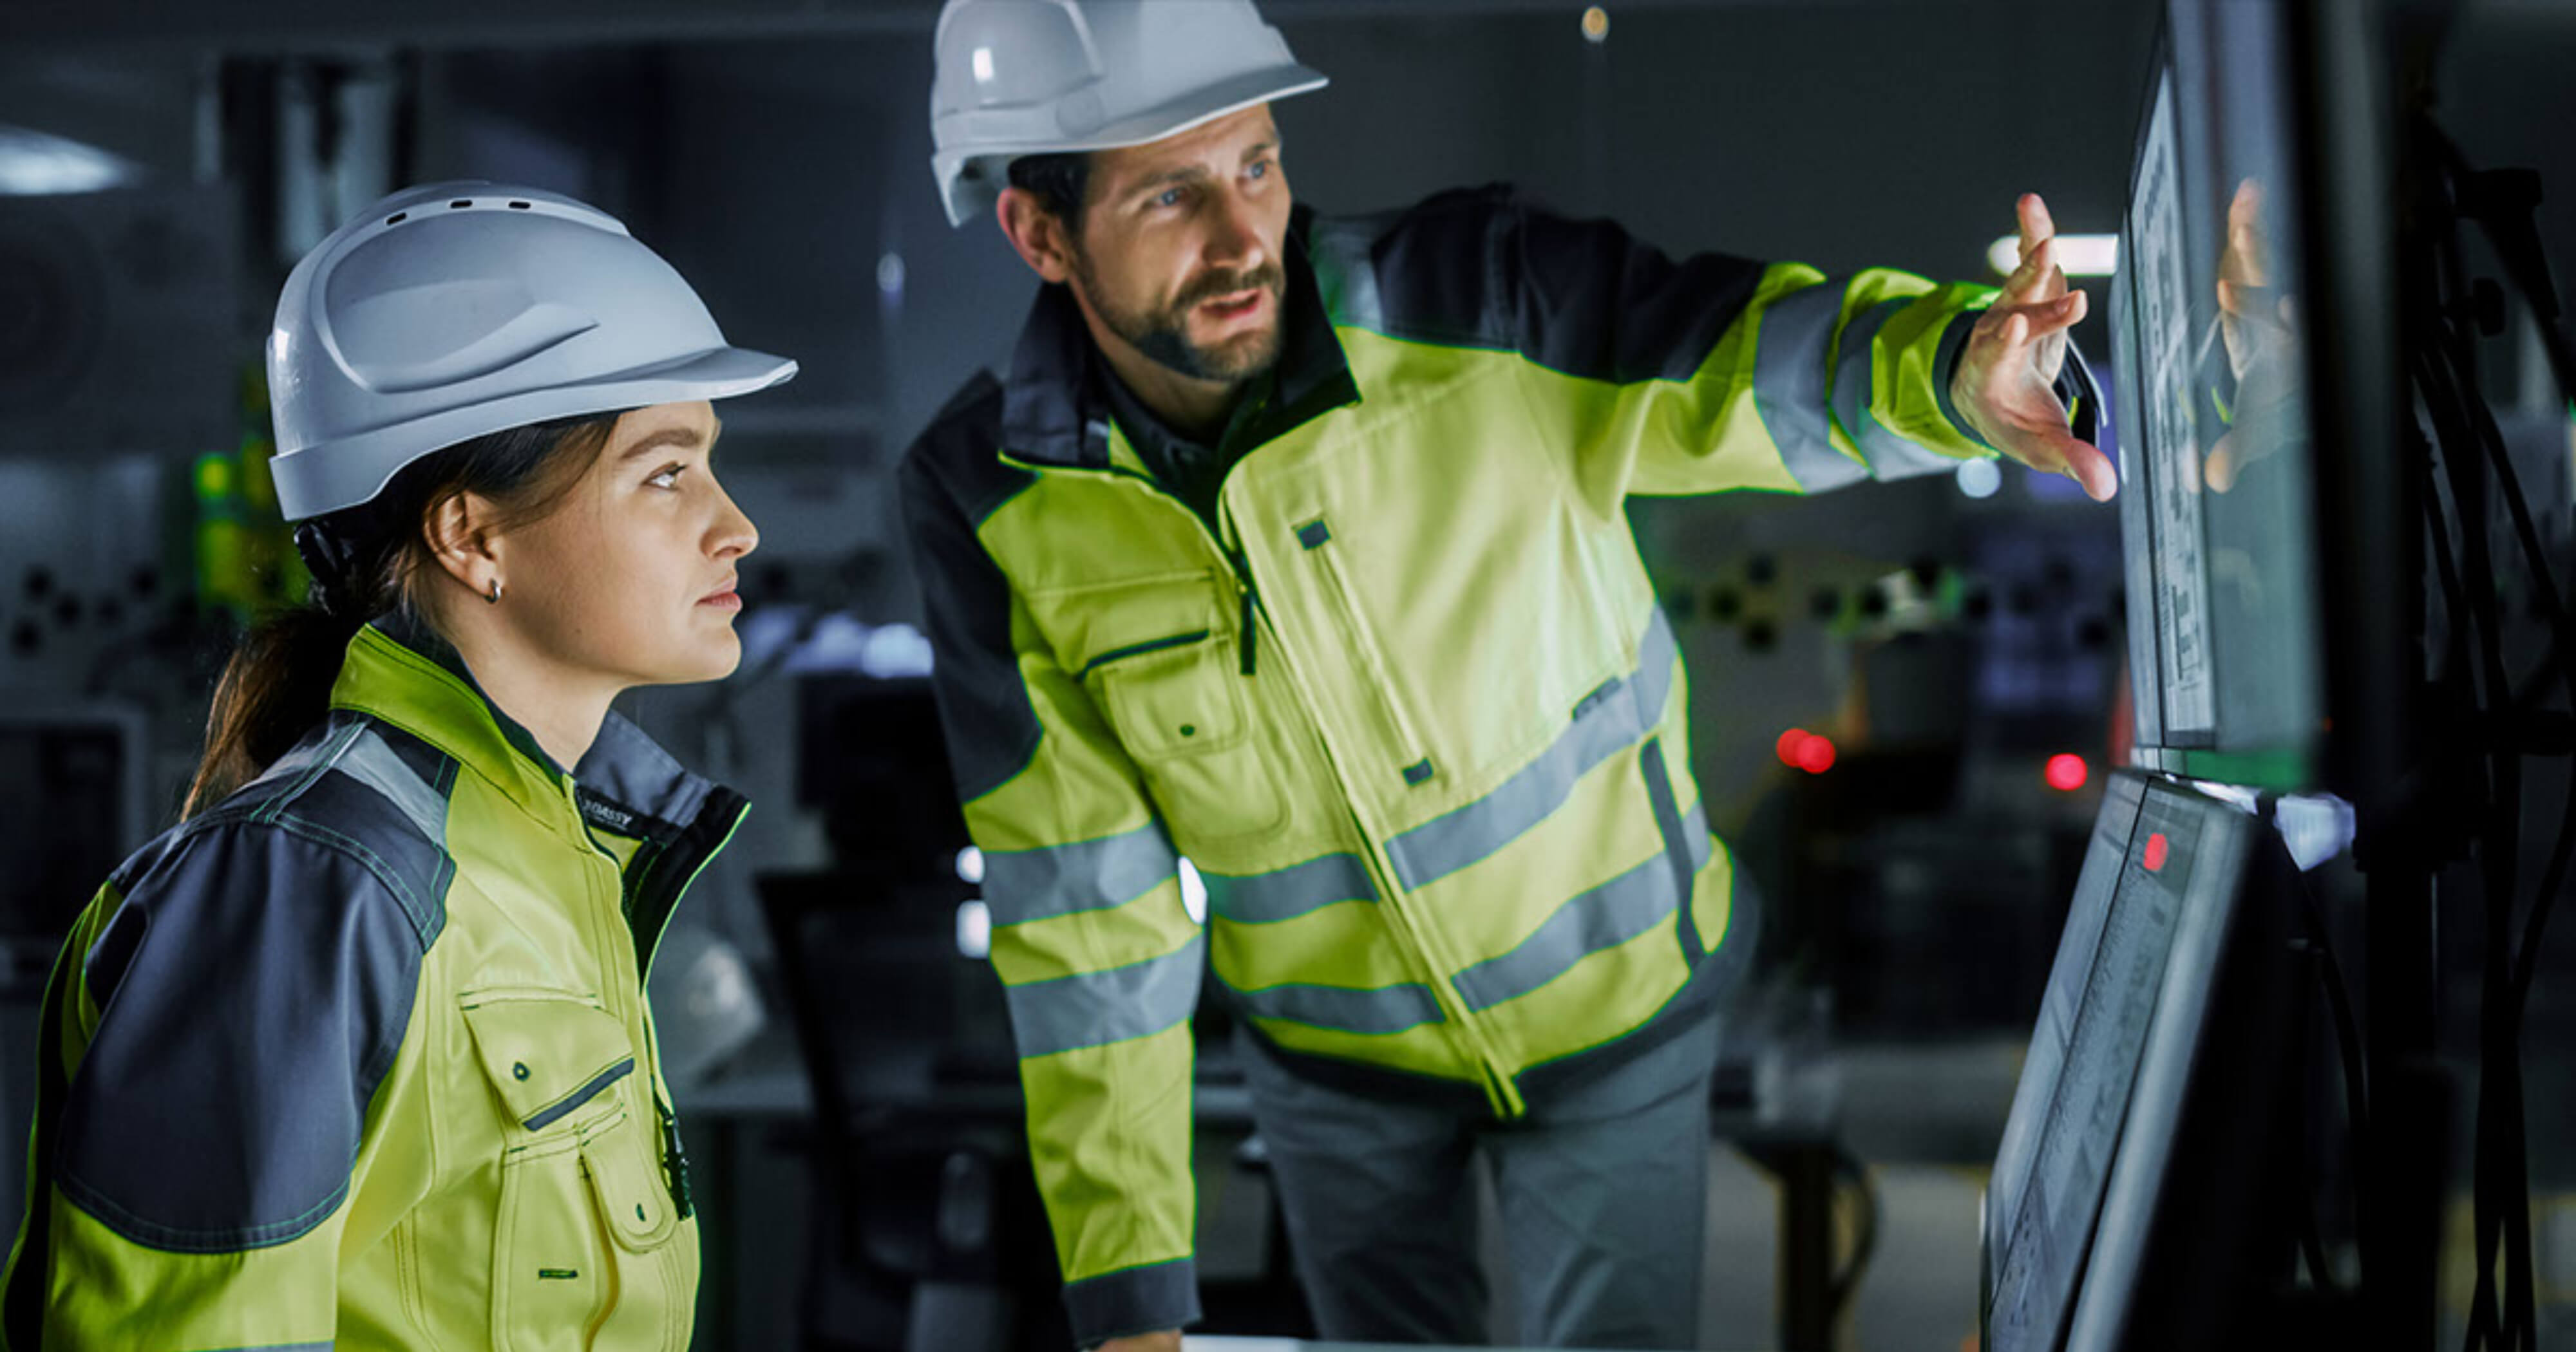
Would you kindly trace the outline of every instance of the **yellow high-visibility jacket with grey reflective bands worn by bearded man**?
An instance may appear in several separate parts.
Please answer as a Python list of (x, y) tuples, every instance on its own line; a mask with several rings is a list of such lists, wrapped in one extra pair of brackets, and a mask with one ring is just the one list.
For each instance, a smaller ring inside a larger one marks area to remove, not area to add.
[(1492, 188), (1298, 211), (1211, 523), (1038, 296), (902, 487), (1084, 1344), (1195, 1319), (1203, 966), (1291, 1064), (1510, 1118), (1741, 963), (1623, 502), (1984, 456), (1945, 399), (1989, 299), (1674, 263)]

